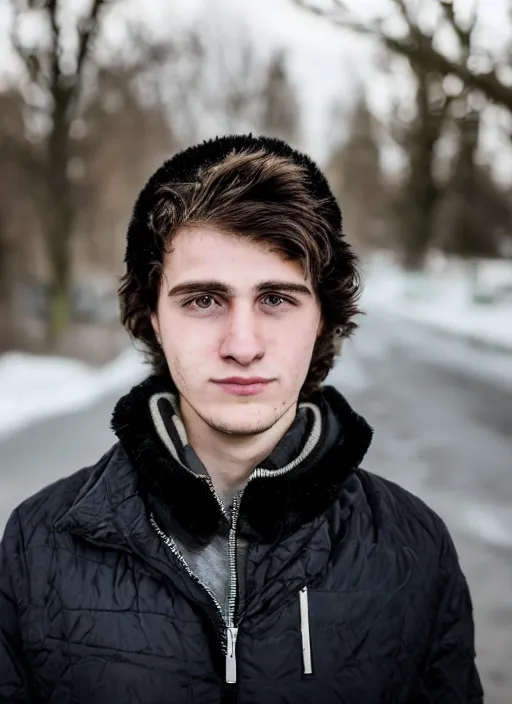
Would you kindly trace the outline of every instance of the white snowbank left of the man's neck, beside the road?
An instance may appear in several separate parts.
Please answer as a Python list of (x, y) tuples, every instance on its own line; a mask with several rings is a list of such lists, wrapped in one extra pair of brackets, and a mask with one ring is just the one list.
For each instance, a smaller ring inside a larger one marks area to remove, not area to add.
[(86, 408), (147, 374), (134, 348), (100, 368), (76, 359), (5, 354), (0, 357), (0, 439), (34, 421)]

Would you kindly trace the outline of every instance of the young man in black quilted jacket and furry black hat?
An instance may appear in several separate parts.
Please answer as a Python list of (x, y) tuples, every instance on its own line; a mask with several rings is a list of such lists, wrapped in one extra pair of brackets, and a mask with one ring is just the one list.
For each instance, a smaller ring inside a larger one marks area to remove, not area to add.
[(482, 702), (444, 524), (359, 468), (372, 431), (322, 386), (359, 289), (286, 144), (216, 139), (153, 175), (120, 288), (153, 374), (98, 464), (10, 518), (0, 701)]

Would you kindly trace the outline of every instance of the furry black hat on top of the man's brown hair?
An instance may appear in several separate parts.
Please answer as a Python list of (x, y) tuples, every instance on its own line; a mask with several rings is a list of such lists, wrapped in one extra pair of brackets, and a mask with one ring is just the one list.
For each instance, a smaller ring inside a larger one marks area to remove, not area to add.
[[(280, 139), (253, 137), (251, 134), (217, 137), (178, 152), (165, 161), (148, 180), (135, 201), (128, 227), (125, 253), (127, 272), (139, 281), (147, 280), (152, 264), (161, 256), (149, 227), (149, 218), (161, 198), (159, 191), (162, 186), (193, 183), (197, 181), (200, 170), (222, 162), (228, 155), (257, 151), (289, 159), (306, 170), (309, 193), (321, 203), (320, 211), (333, 233), (340, 236), (340, 208), (327, 179), (312, 159)], [(169, 193), (168, 197), (172, 198), (172, 194)]]

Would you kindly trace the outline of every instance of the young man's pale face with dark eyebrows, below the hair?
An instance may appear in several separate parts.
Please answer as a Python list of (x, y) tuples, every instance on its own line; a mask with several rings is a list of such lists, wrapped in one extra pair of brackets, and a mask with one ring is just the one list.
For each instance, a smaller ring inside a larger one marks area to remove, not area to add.
[(152, 323), (182, 412), (253, 435), (294, 409), (321, 312), (300, 264), (205, 226), (173, 239)]

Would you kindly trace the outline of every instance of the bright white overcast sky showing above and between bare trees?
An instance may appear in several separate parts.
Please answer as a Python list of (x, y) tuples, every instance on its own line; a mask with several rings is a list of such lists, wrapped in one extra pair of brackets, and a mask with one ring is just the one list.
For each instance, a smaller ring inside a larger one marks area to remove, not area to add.
[[(329, 0), (323, 1), (329, 3)], [(428, 11), (429, 0), (411, 0), (415, 1), (421, 2), (424, 11)], [(480, 8), (479, 45), (490, 49), (504, 45), (509, 31), (506, 21), (508, 0), (477, 1)], [(0, 67), (12, 71), (15, 62), (9, 52), (7, 37), (10, 2), (0, 0)], [(89, 2), (66, 0), (62, 4), (79, 9)], [(363, 18), (390, 7), (389, 0), (347, 0), (346, 4)], [(467, 12), (472, 4), (472, 0), (458, 0), (456, 6)], [(331, 101), (336, 99), (349, 104), (359, 82), (365, 84), (370, 105), (382, 119), (385, 119), (393, 97), (400, 95), (405, 101), (411, 99), (412, 84), (405, 69), (397, 69), (391, 80), (386, 80), (379, 71), (375, 42), (334, 28), (296, 8), (291, 0), (122, 0), (106, 25), (104, 44), (123, 41), (122, 19), (142, 22), (165, 38), (175, 36), (182, 27), (205, 17), (216, 21), (226, 37), (235, 32), (252, 36), (262, 52), (278, 46), (289, 50), (292, 78), (300, 89), (303, 104), (307, 106), (308, 148), (317, 158), (324, 156)], [(35, 27), (28, 27), (27, 32), (37, 35)], [(446, 42), (448, 49), (449, 40)], [(494, 121), (492, 117), (491, 122)], [(496, 129), (491, 125), (487, 132), (486, 148), (495, 149), (499, 142)], [(500, 153), (498, 168), (512, 171), (508, 155), (505, 152), (504, 156), (502, 150)]]

